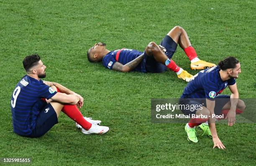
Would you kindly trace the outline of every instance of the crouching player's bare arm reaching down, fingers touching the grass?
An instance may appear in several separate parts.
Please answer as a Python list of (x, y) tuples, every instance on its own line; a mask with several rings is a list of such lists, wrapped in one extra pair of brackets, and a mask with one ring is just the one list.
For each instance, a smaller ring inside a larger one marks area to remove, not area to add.
[(219, 149), (225, 149), (225, 146), (222, 144), (217, 134), (215, 118), (212, 118), (212, 114), (214, 114), (215, 101), (206, 99), (206, 105), (207, 105), (207, 109), (210, 111), (210, 117), (208, 121), (209, 121), (210, 131), (212, 134), (212, 141), (214, 143), (213, 148), (218, 147)]

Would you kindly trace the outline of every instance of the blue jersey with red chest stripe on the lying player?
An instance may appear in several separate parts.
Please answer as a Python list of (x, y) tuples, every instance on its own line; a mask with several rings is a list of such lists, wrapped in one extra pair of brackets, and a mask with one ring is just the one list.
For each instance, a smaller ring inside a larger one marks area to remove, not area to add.
[[(127, 64), (131, 62), (133, 59), (136, 59), (138, 56), (140, 56), (143, 53), (138, 50), (122, 49), (117, 61), (116, 55), (118, 51), (120, 50), (111, 51), (103, 57), (102, 63), (104, 67), (108, 69), (113, 69), (113, 65), (115, 64), (115, 62), (120, 62), (123, 65)], [(138, 72), (146, 72), (145, 65), (143, 65), (142, 62), (143, 61), (141, 61), (141, 63), (139, 63), (138, 66), (133, 70)]]

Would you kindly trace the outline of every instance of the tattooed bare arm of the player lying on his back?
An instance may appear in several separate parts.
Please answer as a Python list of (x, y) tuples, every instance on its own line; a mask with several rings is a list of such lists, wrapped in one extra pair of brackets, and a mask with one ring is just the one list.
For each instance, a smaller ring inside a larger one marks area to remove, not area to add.
[(117, 70), (120, 72), (130, 72), (133, 69), (135, 69), (135, 67), (137, 67), (142, 60), (143, 60), (143, 54), (141, 54), (136, 59), (133, 59), (131, 62), (125, 65), (121, 64), (120, 62), (115, 62), (115, 64), (113, 65), (113, 70)]

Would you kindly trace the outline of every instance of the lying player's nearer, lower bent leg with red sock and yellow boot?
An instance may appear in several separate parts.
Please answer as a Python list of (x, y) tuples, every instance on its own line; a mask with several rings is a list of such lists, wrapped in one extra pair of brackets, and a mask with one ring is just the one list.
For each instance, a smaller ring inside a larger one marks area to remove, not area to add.
[(170, 70), (174, 71), (177, 74), (178, 78), (181, 78), (187, 82), (189, 82), (190, 79), (193, 78), (191, 74), (183, 70), (181, 67), (177, 66), (177, 64), (173, 60), (169, 59), (160, 49), (160, 47), (156, 45), (155, 42), (150, 42), (146, 47), (145, 51), (148, 56), (153, 56), (157, 62), (165, 64)]

